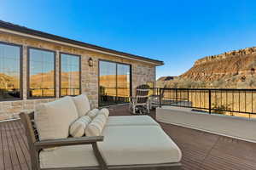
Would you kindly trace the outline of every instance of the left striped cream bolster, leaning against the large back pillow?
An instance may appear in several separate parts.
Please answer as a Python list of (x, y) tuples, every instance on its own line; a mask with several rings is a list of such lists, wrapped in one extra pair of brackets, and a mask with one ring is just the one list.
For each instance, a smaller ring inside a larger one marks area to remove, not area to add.
[(84, 136), (85, 128), (91, 122), (90, 116), (81, 116), (78, 120), (72, 123), (69, 129), (71, 136), (78, 138)]

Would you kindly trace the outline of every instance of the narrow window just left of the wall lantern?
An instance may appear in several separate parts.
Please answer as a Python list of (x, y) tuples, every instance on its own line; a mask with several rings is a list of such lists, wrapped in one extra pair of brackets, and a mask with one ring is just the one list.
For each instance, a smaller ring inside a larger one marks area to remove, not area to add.
[(61, 54), (60, 83), (61, 96), (81, 94), (81, 57)]

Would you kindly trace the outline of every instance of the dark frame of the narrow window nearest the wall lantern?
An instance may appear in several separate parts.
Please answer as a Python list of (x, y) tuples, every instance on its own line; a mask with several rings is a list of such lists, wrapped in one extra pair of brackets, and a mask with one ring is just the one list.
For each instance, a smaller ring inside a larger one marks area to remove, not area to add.
[(82, 94), (82, 56), (78, 54), (69, 54), (69, 53), (64, 53), (60, 52), (59, 53), (59, 96), (64, 97), (64, 96), (77, 96), (77, 95), (61, 95), (61, 54), (67, 54), (67, 55), (73, 55), (75, 57), (79, 57), (79, 95)]

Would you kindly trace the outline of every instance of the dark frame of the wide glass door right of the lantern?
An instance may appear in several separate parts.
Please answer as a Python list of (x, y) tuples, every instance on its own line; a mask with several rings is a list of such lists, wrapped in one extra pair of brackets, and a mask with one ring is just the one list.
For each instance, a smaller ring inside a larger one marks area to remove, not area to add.
[[(110, 63), (114, 63), (116, 64), (116, 67), (115, 67), (115, 71), (116, 71), (116, 77), (115, 77), (115, 82), (116, 82), (116, 95), (118, 94), (118, 88), (117, 88), (117, 76), (118, 76), (118, 64), (119, 65), (129, 65), (130, 66), (130, 97), (132, 96), (132, 65), (131, 64), (127, 64), (127, 63), (121, 63), (121, 62), (118, 62), (118, 61), (112, 61), (112, 60), (108, 60), (108, 59), (98, 59), (98, 104), (100, 104), (100, 62), (101, 61), (106, 61), (106, 62), (110, 62)], [(116, 103), (116, 102), (115, 102)], [(120, 105), (120, 104), (114, 104), (114, 105)], [(106, 105), (99, 105), (99, 107), (105, 107)], [(107, 105), (107, 106), (110, 106), (110, 105)]]

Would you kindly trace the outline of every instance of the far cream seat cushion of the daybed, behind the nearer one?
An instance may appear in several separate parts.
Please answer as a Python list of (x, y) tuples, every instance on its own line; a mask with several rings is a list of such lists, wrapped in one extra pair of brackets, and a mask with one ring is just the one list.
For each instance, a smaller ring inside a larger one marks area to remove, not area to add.
[(109, 116), (107, 126), (134, 126), (134, 125), (156, 125), (158, 122), (150, 116)]

